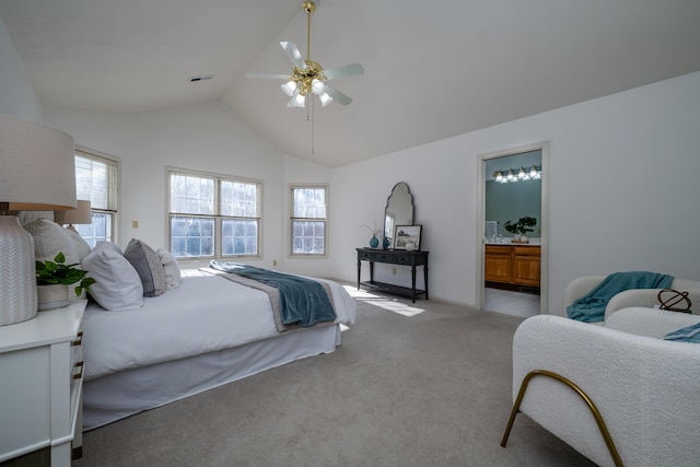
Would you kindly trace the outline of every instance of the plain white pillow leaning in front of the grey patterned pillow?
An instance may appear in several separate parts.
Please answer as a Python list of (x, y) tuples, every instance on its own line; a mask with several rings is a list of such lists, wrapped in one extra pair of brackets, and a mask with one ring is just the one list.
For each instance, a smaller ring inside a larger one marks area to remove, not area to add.
[(83, 259), (83, 268), (97, 281), (90, 285), (90, 295), (103, 308), (120, 312), (143, 305), (141, 278), (118, 245), (98, 243)]

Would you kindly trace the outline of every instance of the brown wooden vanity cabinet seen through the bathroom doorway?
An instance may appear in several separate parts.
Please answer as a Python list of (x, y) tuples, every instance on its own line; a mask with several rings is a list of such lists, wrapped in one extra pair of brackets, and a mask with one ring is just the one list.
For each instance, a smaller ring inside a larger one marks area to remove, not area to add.
[(539, 287), (538, 245), (486, 245), (485, 279), (514, 285)]

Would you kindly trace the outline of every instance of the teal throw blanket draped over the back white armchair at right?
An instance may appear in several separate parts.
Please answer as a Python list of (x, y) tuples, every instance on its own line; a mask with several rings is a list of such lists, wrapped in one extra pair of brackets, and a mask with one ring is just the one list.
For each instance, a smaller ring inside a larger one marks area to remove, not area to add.
[(657, 272), (614, 272), (587, 295), (576, 299), (567, 307), (567, 315), (584, 323), (602, 322), (605, 319), (605, 307), (618, 293), (630, 289), (668, 289), (673, 281), (673, 276)]

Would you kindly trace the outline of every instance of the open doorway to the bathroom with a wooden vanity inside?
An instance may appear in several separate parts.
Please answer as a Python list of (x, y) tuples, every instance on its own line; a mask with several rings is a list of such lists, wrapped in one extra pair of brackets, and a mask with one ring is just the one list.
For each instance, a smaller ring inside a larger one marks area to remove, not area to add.
[[(548, 142), (479, 155), (476, 276), (481, 310), (547, 313), (548, 162)], [(516, 179), (524, 174), (515, 182), (495, 182), (499, 173), (508, 177), (511, 171)], [(526, 217), (537, 223), (526, 226), (532, 229), (527, 238), (518, 240), (510, 225)]]

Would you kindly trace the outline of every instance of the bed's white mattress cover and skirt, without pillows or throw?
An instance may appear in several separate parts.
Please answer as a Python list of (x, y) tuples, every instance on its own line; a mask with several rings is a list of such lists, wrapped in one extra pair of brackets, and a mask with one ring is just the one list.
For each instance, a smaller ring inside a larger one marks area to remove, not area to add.
[(182, 271), (176, 289), (141, 307), (83, 318), (83, 430), (250, 376), (332, 352), (354, 323), (357, 304), (337, 282), (336, 319), (280, 332), (269, 296), (207, 269)]

